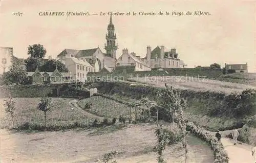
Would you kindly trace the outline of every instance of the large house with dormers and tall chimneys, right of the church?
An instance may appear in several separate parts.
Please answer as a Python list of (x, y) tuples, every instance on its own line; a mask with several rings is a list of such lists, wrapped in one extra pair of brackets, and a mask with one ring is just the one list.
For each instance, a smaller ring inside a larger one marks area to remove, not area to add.
[(153, 51), (151, 46), (147, 46), (146, 57), (141, 60), (151, 68), (180, 68), (186, 66), (184, 61), (179, 59), (175, 48), (168, 51), (164, 45), (157, 46)]

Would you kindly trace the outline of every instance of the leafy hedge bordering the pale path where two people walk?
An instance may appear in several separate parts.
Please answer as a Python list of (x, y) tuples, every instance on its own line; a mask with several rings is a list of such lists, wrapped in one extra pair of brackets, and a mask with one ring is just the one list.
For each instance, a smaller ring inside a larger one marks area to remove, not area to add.
[(191, 133), (195, 134), (196, 136), (201, 138), (203, 141), (206, 141), (211, 146), (211, 149), (214, 151), (214, 157), (215, 157), (214, 163), (229, 162), (229, 157), (224, 149), (223, 144), (219, 142), (214, 135), (208, 133), (206, 130), (200, 127), (197, 127), (192, 122), (187, 123), (187, 130), (191, 131)]

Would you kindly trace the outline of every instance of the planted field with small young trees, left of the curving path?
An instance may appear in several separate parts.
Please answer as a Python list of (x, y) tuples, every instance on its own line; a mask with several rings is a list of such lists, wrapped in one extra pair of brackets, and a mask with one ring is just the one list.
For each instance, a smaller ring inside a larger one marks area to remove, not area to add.
[[(72, 107), (71, 99), (52, 98), (52, 110), (48, 112), (47, 126), (52, 129), (65, 129), (87, 126), (93, 120), (83, 110)], [(16, 111), (15, 127), (20, 129), (44, 128), (44, 112), (37, 109), (40, 98), (14, 98)], [(0, 99), (1, 128), (12, 128), (10, 116), (5, 113), (4, 99)], [(73, 109), (72, 109), (73, 108)]]

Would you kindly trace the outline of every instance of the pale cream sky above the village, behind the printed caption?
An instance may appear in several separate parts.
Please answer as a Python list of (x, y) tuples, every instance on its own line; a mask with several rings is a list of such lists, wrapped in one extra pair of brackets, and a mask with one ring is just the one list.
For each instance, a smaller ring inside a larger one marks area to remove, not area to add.
[[(188, 67), (209, 66), (216, 62), (248, 63), (256, 73), (256, 1), (34, 1), (0, 2), (0, 46), (13, 47), (13, 54), (27, 58), (27, 47), (42, 44), (56, 58), (64, 49), (104, 51), (109, 15), (100, 12), (123, 12), (113, 15), (119, 49), (144, 57), (146, 46), (176, 48)], [(67, 16), (67, 12), (90, 13), (90, 16)], [(164, 15), (158, 15), (162, 11)], [(165, 15), (165, 12), (170, 15)], [(190, 11), (191, 15), (186, 15)], [(210, 15), (194, 15), (195, 11)], [(14, 12), (23, 13), (13, 16)], [(65, 12), (65, 16), (39, 16), (39, 12)], [(157, 15), (127, 16), (127, 12), (155, 12)], [(172, 15), (183, 12), (184, 15)], [(92, 14), (98, 15), (92, 15)]]

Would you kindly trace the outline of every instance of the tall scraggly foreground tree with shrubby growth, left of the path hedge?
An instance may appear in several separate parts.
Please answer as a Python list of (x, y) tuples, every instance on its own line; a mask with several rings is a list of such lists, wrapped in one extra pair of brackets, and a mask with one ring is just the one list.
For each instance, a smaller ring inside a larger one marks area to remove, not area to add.
[[(169, 87), (165, 84), (165, 89), (158, 92), (161, 109), (168, 114), (169, 120), (172, 124), (176, 124), (179, 133), (177, 135), (174, 132), (163, 129), (162, 127), (157, 128), (156, 136), (158, 138), (158, 143), (156, 146), (158, 152), (158, 162), (164, 162), (162, 157), (162, 152), (167, 145), (174, 144), (177, 142), (182, 142), (183, 148), (185, 149), (185, 162), (187, 156), (187, 143), (185, 140), (186, 123), (183, 114), (183, 108), (186, 107), (186, 100), (180, 97), (180, 91), (174, 91), (173, 87)], [(178, 136), (178, 137), (177, 137)]]

